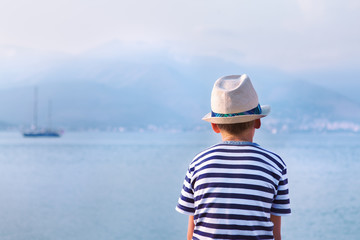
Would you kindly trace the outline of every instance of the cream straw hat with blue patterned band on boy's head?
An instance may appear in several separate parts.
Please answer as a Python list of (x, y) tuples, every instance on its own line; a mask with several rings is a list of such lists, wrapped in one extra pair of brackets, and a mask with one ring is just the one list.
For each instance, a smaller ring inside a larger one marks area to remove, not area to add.
[(249, 122), (267, 116), (270, 106), (260, 106), (256, 91), (246, 75), (216, 80), (211, 93), (211, 112), (203, 120), (217, 124)]

